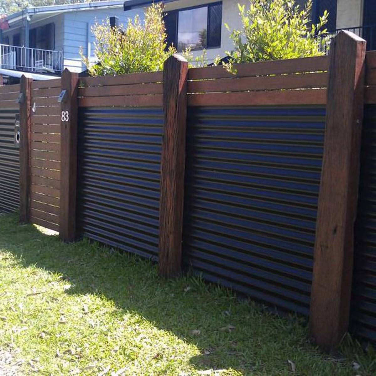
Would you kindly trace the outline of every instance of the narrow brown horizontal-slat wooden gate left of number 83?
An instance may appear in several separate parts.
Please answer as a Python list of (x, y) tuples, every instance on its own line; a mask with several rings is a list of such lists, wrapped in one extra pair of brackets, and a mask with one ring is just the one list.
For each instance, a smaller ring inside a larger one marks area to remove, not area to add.
[(31, 90), (30, 221), (59, 231), (61, 80), (35, 81)]

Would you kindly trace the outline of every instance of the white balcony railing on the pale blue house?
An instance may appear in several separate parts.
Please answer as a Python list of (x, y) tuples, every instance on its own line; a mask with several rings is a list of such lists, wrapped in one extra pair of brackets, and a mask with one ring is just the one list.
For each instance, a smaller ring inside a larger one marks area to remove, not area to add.
[(0, 68), (28, 72), (61, 72), (63, 53), (0, 44)]

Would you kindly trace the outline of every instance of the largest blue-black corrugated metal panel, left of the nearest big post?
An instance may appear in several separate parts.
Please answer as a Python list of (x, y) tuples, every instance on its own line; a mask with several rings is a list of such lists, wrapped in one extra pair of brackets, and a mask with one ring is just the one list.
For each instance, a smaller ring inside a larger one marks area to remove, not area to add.
[(308, 314), (324, 115), (188, 109), (183, 249), (195, 272)]

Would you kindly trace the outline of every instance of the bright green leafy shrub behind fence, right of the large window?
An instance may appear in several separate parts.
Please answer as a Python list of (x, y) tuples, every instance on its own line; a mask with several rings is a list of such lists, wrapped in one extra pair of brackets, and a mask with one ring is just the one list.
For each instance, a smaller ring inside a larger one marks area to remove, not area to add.
[(235, 47), (226, 52), (230, 56), (227, 70), (235, 73), (233, 63), (323, 55), (328, 13), (312, 24), (311, 0), (304, 8), (294, 0), (249, 0), (247, 9), (239, 4), (238, 8), (242, 29), (231, 31), (225, 24)]

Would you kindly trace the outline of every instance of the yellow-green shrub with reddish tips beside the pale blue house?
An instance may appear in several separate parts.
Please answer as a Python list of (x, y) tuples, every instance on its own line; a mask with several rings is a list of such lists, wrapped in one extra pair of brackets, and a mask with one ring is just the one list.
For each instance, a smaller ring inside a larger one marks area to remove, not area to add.
[(109, 21), (95, 24), (96, 38), (91, 64), (82, 53), (82, 60), (92, 76), (119, 75), (135, 72), (160, 71), (164, 61), (176, 52), (173, 46), (166, 50), (166, 32), (163, 6), (152, 4), (145, 11), (144, 21), (136, 15), (127, 26), (111, 29)]

